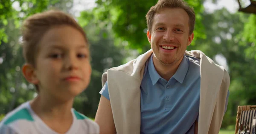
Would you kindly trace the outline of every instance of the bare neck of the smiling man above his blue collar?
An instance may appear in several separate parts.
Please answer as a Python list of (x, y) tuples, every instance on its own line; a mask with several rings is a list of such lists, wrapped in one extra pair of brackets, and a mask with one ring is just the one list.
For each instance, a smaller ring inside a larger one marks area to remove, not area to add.
[(172, 78), (172, 76), (176, 73), (178, 67), (180, 66), (182, 59), (183, 59), (183, 57), (180, 58), (179, 61), (176, 61), (173, 64), (164, 65), (164, 64), (160, 63), (160, 61), (158, 61), (156, 57), (153, 56), (153, 63), (154, 63), (154, 67), (155, 67), (157, 73), (162, 78), (166, 79), (166, 81), (169, 81), (169, 79)]

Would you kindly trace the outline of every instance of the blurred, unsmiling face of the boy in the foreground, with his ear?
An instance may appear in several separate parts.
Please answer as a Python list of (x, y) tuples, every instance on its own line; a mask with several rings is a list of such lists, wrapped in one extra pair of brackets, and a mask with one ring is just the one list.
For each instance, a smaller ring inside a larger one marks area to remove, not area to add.
[[(39, 94), (63, 100), (87, 88), (91, 75), (90, 53), (80, 31), (66, 25), (51, 28), (42, 37), (38, 52), (36, 67), (27, 79), (38, 84)], [(25, 77), (29, 66), (23, 67)]]

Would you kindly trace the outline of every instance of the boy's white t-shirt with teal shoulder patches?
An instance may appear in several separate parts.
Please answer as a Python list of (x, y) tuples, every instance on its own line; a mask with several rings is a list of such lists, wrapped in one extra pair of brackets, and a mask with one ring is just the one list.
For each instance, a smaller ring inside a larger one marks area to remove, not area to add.
[[(83, 114), (71, 109), (73, 123), (65, 134), (99, 134), (99, 125)], [(23, 103), (6, 115), (0, 122), (0, 134), (58, 134), (49, 128), (31, 109), (29, 102)]]

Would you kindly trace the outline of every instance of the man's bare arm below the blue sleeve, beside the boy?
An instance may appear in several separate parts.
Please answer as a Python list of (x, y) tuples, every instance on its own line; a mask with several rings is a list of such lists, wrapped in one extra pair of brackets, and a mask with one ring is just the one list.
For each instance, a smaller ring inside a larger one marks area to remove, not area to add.
[(95, 122), (99, 124), (100, 134), (116, 134), (110, 100), (104, 96), (100, 97)]

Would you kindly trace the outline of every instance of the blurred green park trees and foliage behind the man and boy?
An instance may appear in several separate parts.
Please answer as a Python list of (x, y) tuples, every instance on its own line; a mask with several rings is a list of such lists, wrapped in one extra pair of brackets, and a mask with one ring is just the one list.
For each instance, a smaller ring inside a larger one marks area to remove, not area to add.
[[(233, 134), (239, 105), (256, 105), (256, 14), (239, 11), (238, 0), (185, 0), (196, 13), (188, 50), (202, 50), (230, 74), (230, 97), (220, 134)], [(241, 7), (250, 0), (240, 0)], [(101, 76), (150, 49), (145, 15), (157, 0), (0, 0), (0, 119), (37, 94), (21, 73), (20, 25), (31, 14), (57, 8), (84, 28), (92, 54), (90, 86), (74, 108), (94, 118)]]

